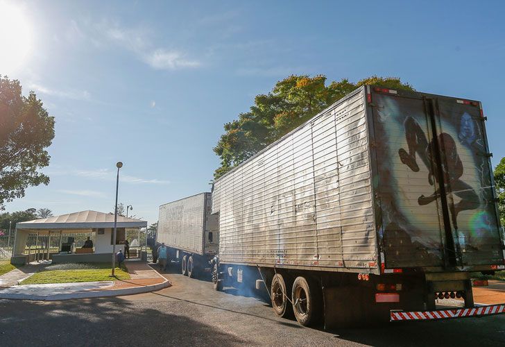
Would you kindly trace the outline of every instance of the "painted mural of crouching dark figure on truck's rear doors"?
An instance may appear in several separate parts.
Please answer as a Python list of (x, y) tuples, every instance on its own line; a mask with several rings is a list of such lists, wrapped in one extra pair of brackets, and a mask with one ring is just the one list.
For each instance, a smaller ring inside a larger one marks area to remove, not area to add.
[(439, 99), (434, 130), (420, 99), (377, 94), (373, 102), (386, 265), (501, 263), (479, 108)]

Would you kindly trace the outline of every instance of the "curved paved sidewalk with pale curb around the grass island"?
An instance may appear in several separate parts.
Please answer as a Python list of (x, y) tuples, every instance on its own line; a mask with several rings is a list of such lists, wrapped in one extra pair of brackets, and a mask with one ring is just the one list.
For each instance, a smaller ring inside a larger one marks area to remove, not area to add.
[[(6, 285), (0, 287), (0, 299), (57, 301), (74, 298), (96, 298), (103, 296), (122, 296), (146, 293), (170, 287), (171, 283), (157, 271), (151, 269), (146, 262), (127, 260), (126, 266), (130, 280), (111, 280), (104, 282), (55, 283), (48, 285), (17, 285), (17, 280), (30, 276), (22, 269), (16, 269), (0, 276)], [(25, 266), (24, 266), (25, 267)], [(31, 267), (33, 270), (33, 266)]]

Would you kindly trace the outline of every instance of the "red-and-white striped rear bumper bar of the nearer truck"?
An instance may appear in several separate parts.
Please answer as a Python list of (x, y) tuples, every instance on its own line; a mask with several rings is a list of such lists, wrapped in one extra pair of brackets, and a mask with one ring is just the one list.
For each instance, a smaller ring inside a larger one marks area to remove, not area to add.
[(390, 321), (421, 321), (436, 319), (454, 319), (477, 316), (493, 316), (505, 314), (505, 303), (472, 308), (457, 308), (450, 310), (411, 311), (391, 310)]

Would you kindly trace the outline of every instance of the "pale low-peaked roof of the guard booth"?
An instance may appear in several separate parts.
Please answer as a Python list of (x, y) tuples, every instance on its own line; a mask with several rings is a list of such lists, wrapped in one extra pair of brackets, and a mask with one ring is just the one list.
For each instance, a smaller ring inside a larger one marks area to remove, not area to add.
[[(142, 228), (147, 222), (140, 219), (117, 216), (117, 228)], [(80, 211), (60, 216), (22, 221), (16, 223), (17, 229), (89, 229), (114, 228), (114, 214), (98, 211)]]

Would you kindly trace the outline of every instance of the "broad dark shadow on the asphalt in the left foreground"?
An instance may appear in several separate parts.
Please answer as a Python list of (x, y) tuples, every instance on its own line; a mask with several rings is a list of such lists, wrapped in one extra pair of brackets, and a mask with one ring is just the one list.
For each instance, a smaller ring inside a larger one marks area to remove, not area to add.
[(1, 346), (237, 346), (212, 325), (121, 298), (0, 301)]

